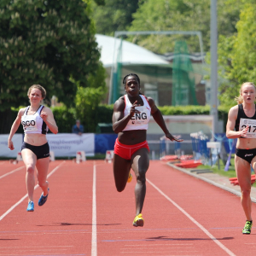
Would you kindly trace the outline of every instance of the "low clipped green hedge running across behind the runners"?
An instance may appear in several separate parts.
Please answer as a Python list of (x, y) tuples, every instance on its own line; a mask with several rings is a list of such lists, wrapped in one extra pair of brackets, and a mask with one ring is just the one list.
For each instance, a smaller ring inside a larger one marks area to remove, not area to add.
[[(209, 106), (163, 106), (159, 107), (160, 112), (163, 115), (189, 115), (189, 114), (209, 114)], [(71, 132), (72, 126), (75, 124), (75, 120), (79, 119), (76, 114), (75, 108), (55, 107), (52, 108), (55, 115), (55, 121), (58, 125), (59, 132)], [(17, 111), (13, 110), (13, 116), (17, 115)], [(97, 124), (99, 123), (112, 123), (113, 115), (113, 105), (100, 105), (96, 109), (91, 110), (93, 119), (90, 120), (90, 125), (86, 125), (83, 119), (80, 119), (81, 124), (84, 125), (84, 132), (98, 131)], [(228, 118), (229, 108), (219, 107), (218, 108), (218, 119), (224, 120), (224, 125), (226, 124)], [(90, 128), (88, 128), (90, 127)], [(22, 127), (18, 132), (22, 132)]]

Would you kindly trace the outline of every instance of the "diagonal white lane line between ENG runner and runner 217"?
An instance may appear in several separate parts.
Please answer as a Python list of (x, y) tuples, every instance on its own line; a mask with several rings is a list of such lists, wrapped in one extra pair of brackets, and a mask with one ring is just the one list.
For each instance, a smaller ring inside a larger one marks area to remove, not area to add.
[(167, 196), (162, 190), (160, 190), (157, 186), (154, 185), (154, 183), (150, 182), (147, 178), (147, 182), (154, 187), (154, 189), (156, 189), (161, 195), (163, 195), (164, 197), (166, 197), (166, 199), (168, 201), (171, 201), (172, 204), (177, 207), (178, 210), (180, 210), (181, 212), (183, 212), (184, 215), (186, 215), (194, 224), (196, 224), (207, 236), (209, 236), (212, 241), (214, 241), (219, 247), (221, 247), (224, 252), (228, 253), (230, 256), (236, 256), (236, 254), (232, 253), (230, 251), (230, 249), (228, 249), (227, 247), (224, 246), (224, 244), (222, 244), (220, 241), (217, 240), (217, 238), (215, 238), (214, 236), (212, 236), (212, 234), (206, 229), (204, 228), (200, 223), (198, 223), (195, 218), (193, 218), (192, 216), (189, 215), (188, 212), (186, 212), (185, 210), (183, 210), (182, 207), (180, 207), (179, 205), (177, 205), (177, 203), (175, 201), (172, 201), (172, 199)]

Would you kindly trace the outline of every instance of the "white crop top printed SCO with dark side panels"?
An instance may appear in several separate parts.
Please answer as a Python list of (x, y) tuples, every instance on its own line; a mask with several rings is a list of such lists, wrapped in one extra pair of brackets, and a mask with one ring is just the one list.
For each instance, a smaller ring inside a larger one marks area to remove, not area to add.
[(26, 107), (25, 112), (21, 117), (21, 125), (23, 126), (24, 133), (47, 133), (48, 126), (40, 116), (43, 108), (44, 106), (41, 105), (36, 113), (28, 115), (27, 111), (29, 107)]

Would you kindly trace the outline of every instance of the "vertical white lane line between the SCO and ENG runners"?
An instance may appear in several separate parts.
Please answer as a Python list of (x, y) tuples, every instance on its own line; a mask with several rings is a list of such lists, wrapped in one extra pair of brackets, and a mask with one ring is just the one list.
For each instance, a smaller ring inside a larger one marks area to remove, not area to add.
[(96, 161), (93, 162), (92, 182), (92, 225), (91, 225), (91, 256), (97, 255), (97, 221), (96, 221)]

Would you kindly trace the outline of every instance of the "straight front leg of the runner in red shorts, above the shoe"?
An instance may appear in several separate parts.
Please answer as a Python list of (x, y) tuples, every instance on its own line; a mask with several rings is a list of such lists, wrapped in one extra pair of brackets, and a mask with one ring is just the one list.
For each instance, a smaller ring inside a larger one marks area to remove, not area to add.
[(142, 212), (146, 195), (146, 172), (149, 166), (149, 154), (147, 148), (138, 149), (131, 157), (131, 168), (137, 178), (135, 186), (136, 216)]

